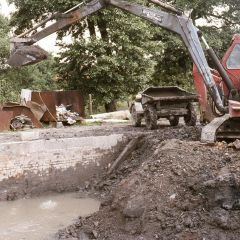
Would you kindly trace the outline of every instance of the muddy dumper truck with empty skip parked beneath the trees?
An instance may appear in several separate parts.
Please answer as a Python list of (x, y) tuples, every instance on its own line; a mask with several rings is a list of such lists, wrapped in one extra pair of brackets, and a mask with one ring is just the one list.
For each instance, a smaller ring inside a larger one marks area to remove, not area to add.
[(147, 129), (153, 130), (160, 118), (177, 126), (183, 117), (187, 126), (195, 126), (197, 113), (193, 102), (198, 102), (198, 96), (179, 87), (149, 87), (138, 94), (130, 106), (133, 125), (140, 127), (144, 119)]

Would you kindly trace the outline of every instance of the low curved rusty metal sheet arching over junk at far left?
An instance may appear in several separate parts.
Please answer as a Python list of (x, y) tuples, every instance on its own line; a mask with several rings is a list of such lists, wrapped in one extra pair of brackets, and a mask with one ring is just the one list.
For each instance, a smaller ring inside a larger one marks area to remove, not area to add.
[(17, 104), (7, 103), (3, 105), (2, 108), (5, 112), (12, 112), (12, 118), (20, 115), (25, 115), (32, 120), (33, 127), (35, 128), (42, 128), (42, 124), (37, 120), (37, 118), (32, 113), (31, 109), (26, 106), (21, 106)]

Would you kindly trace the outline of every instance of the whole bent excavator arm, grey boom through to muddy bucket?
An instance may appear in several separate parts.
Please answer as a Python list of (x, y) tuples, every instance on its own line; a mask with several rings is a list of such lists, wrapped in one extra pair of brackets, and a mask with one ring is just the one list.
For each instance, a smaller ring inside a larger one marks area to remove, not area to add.
[[(156, 3), (159, 0), (150, 1)], [(70, 10), (64, 14), (60, 14), (59, 18), (54, 24), (31, 35), (30, 37), (22, 38), (26, 34), (21, 34), (20, 37), (13, 38), (11, 41), (12, 52), (9, 59), (9, 64), (12, 66), (23, 66), (45, 59), (47, 57), (46, 52), (41, 50), (39, 47), (32, 46), (32, 44), (51, 35), (56, 31), (63, 29), (68, 25), (82, 20), (83, 18), (107, 6), (122, 9), (157, 26), (177, 33), (184, 42), (193, 62), (197, 66), (199, 73), (202, 75), (205, 86), (208, 89), (212, 99), (214, 100), (217, 109), (221, 113), (226, 113), (228, 111), (227, 108), (223, 106), (218, 89), (210, 72), (210, 68), (208, 66), (199, 39), (199, 30), (193, 25), (192, 20), (184, 15), (181, 15), (179, 12), (169, 13), (124, 0), (92, 0), (83, 6), (79, 6), (77, 9), (73, 9), (72, 11)], [(174, 10), (172, 12), (174, 12)], [(43, 23), (45, 24), (46, 21)], [(38, 24), (37, 27), (40, 25), (41, 24)], [(27, 33), (29, 33), (29, 31)]]

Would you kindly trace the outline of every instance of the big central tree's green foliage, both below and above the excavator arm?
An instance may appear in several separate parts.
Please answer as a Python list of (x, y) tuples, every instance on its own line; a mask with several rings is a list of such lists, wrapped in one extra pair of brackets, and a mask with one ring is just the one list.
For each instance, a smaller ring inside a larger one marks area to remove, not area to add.
[[(12, 2), (19, 9), (11, 20), (17, 33), (32, 26), (30, 19), (39, 21), (43, 13), (63, 12), (76, 4), (71, 0), (62, 4), (36, 0)], [(90, 39), (83, 37), (90, 30), (89, 23), (95, 33), (100, 30), (101, 36), (97, 33)], [(103, 104), (135, 94), (151, 82), (156, 65), (153, 55), (161, 50), (161, 44), (152, 41), (155, 30), (149, 23), (120, 10), (107, 9), (89, 17), (88, 23), (82, 21), (65, 30), (59, 37), (71, 33), (75, 41), (64, 45), (57, 58), (64, 88), (91, 93), (97, 103)]]

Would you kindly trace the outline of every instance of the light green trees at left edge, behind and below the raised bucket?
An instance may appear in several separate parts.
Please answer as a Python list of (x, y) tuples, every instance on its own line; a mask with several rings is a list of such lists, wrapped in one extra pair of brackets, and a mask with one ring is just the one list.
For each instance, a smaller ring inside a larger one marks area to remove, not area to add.
[(55, 89), (54, 60), (50, 58), (34, 66), (11, 68), (6, 64), (9, 50), (8, 19), (0, 15), (0, 102), (16, 101), (22, 88)]

